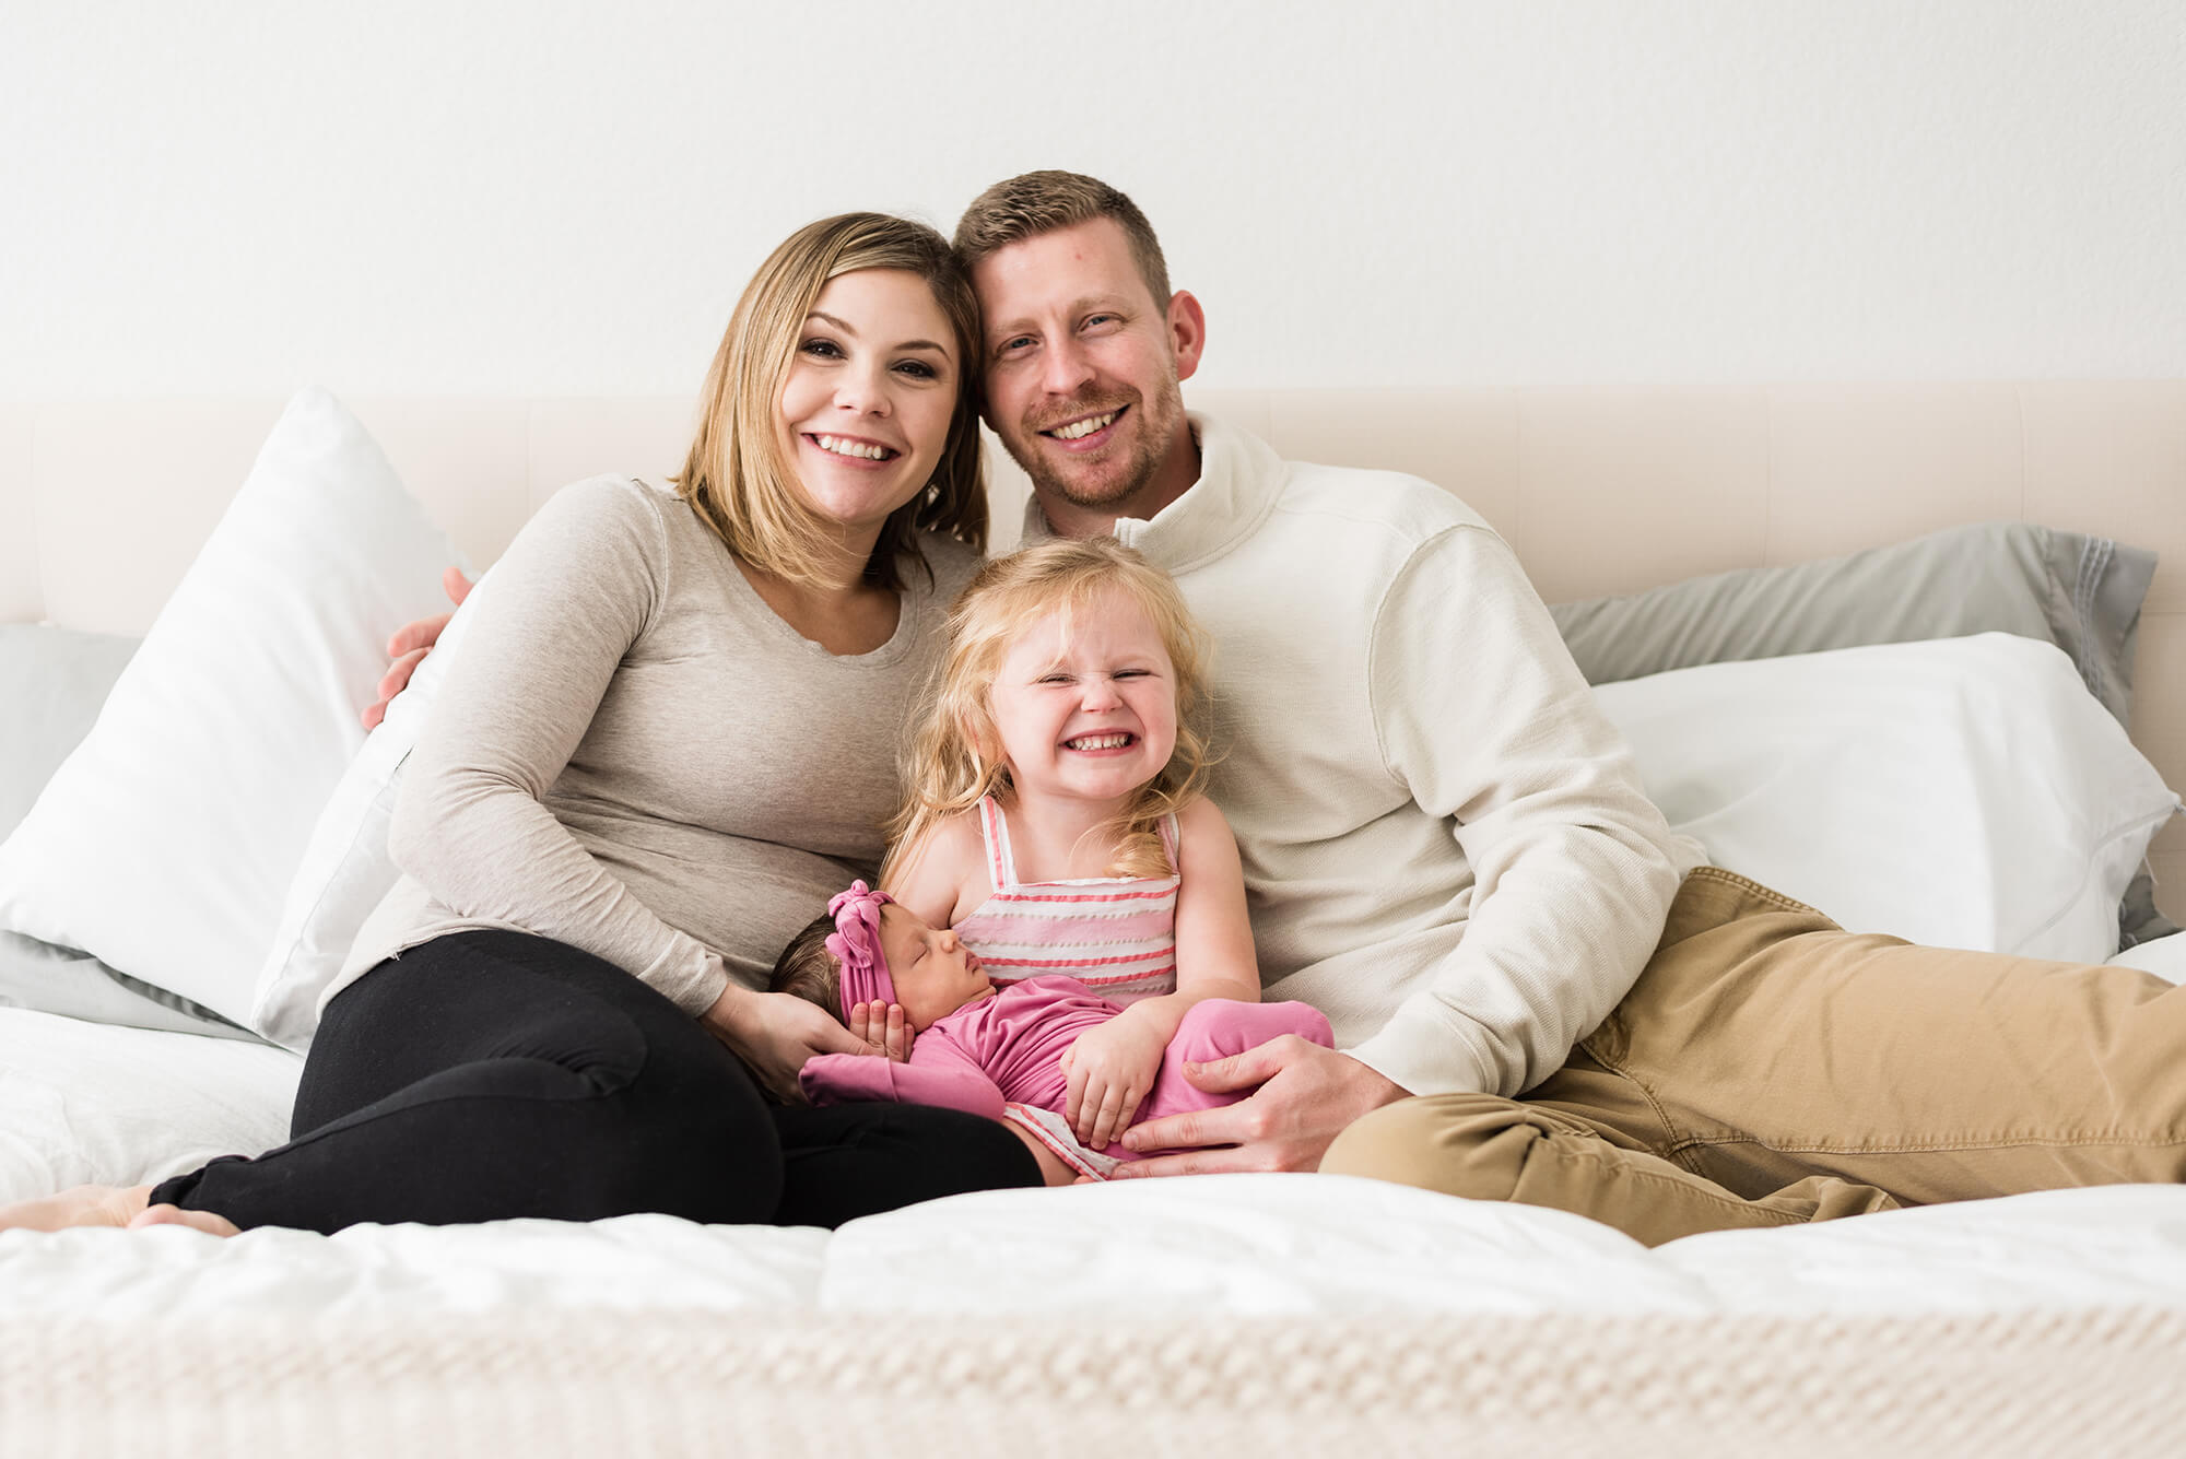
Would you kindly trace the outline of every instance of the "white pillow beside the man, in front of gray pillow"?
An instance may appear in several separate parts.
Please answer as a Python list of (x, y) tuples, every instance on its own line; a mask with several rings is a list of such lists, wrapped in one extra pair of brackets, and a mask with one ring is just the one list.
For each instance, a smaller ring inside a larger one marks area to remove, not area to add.
[(1679, 668), (1596, 701), (1677, 830), (1854, 933), (2101, 963), (2179, 808), (2072, 662), (2011, 633)]

